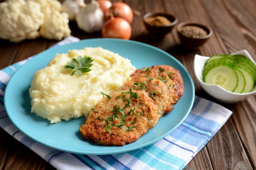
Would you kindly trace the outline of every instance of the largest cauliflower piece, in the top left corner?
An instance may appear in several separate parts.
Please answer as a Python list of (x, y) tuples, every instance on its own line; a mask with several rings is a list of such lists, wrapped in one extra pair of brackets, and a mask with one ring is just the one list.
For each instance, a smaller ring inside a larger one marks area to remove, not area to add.
[(12, 42), (35, 39), (44, 22), (38, 3), (31, 0), (8, 0), (0, 3), (0, 38)]

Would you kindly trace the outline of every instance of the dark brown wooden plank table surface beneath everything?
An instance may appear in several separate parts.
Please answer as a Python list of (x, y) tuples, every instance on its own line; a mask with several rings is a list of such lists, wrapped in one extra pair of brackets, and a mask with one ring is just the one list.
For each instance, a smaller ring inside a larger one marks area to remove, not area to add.
[[(255, 0), (124, 0), (141, 12), (132, 22), (132, 40), (156, 46), (177, 58), (193, 78), (196, 95), (220, 103), (209, 96), (196, 81), (195, 54), (233, 53), (246, 49), (256, 59)], [(195, 21), (209, 25), (213, 35), (198, 50), (180, 45), (176, 28), (160, 40), (150, 39), (142, 22), (144, 14), (165, 11), (179, 21)], [(72, 36), (80, 39), (99, 38), (100, 33), (87, 34), (69, 23)], [(0, 69), (40, 53), (57, 41), (43, 38), (10, 43), (0, 40)], [(256, 169), (256, 97), (236, 104), (220, 103), (233, 111), (227, 123), (184, 168), (189, 169)], [(48, 162), (0, 128), (0, 169), (54, 169)]]

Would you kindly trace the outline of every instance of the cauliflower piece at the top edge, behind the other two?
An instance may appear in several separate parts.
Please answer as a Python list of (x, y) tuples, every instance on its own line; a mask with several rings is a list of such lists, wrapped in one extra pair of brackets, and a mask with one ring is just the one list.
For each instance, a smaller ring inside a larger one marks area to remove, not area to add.
[(33, 0), (40, 4), (41, 11), (44, 14), (52, 13), (52, 11), (60, 12), (62, 9), (61, 3), (57, 0)]

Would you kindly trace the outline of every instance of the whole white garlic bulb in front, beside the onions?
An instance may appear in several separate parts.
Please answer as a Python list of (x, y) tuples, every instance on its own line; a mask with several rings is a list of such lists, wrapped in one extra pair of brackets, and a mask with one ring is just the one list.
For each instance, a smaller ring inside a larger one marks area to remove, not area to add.
[(100, 31), (104, 24), (104, 14), (100, 9), (100, 4), (92, 0), (91, 4), (80, 9), (76, 14), (78, 27), (88, 33)]

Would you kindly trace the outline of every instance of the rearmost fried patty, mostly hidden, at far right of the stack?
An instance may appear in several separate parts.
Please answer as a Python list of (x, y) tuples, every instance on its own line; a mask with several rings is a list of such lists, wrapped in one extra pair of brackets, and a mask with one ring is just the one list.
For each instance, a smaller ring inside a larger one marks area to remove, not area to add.
[(175, 89), (176, 89), (176, 94), (178, 95), (178, 99), (182, 96), (183, 91), (184, 91), (184, 82), (181, 77), (180, 71), (175, 69), (172, 66), (168, 65), (159, 65), (159, 66), (152, 66), (151, 68), (149, 67), (143, 67), (141, 69), (138, 69), (131, 75), (132, 80), (135, 79), (136, 77), (143, 77), (145, 75), (149, 75), (152, 72), (155, 73), (165, 73), (168, 75), (168, 78), (171, 79), (174, 84), (175, 84)]

